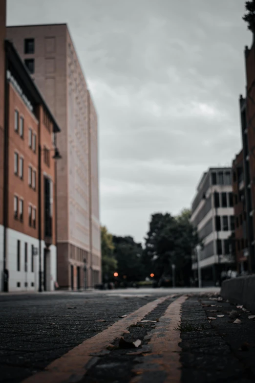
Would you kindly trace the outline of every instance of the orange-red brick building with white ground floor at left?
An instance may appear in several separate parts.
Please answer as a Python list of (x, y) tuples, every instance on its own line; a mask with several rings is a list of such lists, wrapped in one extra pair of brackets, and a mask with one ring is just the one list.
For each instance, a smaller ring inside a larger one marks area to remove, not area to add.
[[(5, 1), (0, 7), (3, 17)], [(8, 275), (1, 290), (50, 291), (57, 280), (55, 136), (60, 128), (13, 44), (4, 41), (4, 31), (0, 38), (0, 260), (1, 275)]]

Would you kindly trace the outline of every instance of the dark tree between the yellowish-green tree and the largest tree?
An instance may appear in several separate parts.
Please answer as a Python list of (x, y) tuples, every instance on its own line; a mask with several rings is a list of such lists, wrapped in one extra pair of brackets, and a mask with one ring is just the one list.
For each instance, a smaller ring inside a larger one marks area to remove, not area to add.
[(141, 262), (143, 248), (132, 237), (113, 236), (114, 255), (118, 262), (118, 274), (120, 279), (125, 275), (126, 281), (139, 281), (144, 277), (143, 264)]

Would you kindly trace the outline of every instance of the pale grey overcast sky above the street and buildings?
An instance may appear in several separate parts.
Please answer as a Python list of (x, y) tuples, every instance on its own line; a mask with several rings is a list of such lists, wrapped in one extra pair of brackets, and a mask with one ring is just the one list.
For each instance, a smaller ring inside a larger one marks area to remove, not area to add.
[(244, 0), (7, 0), (7, 24), (67, 23), (99, 115), (101, 223), (142, 241), (241, 148)]

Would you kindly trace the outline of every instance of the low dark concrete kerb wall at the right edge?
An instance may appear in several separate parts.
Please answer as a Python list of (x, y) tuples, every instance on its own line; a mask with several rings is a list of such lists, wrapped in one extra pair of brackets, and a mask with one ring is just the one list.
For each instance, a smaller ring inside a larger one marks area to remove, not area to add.
[(255, 312), (255, 275), (228, 279), (222, 283), (221, 296)]

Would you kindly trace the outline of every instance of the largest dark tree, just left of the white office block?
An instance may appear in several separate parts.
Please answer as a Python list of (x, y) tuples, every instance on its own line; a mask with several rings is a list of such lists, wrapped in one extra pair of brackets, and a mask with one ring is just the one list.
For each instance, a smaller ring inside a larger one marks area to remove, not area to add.
[(143, 253), (143, 262), (149, 275), (159, 278), (163, 273), (172, 273), (176, 267), (176, 282), (189, 284), (191, 254), (198, 243), (196, 230), (190, 223), (190, 210), (173, 217), (169, 213), (156, 213), (151, 216), (149, 232)]

